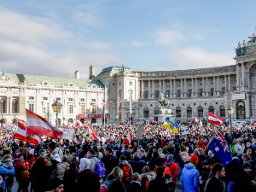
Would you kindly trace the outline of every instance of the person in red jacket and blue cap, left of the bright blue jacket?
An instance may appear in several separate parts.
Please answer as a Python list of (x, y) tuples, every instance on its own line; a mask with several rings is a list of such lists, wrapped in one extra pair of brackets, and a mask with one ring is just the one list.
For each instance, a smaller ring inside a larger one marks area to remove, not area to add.
[(178, 166), (176, 163), (173, 162), (173, 155), (169, 154), (167, 157), (166, 162), (164, 163), (164, 166), (166, 166), (165, 169), (165, 177), (171, 176), (172, 182), (173, 182), (173, 189), (172, 192), (174, 192), (176, 187), (176, 178), (178, 173)]

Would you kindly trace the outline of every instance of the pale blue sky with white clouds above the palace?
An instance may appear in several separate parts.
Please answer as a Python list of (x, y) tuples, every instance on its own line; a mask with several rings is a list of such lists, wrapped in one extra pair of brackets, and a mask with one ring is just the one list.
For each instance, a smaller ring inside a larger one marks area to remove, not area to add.
[(104, 67), (140, 71), (235, 64), (255, 32), (256, 2), (10, 0), (0, 3), (0, 70), (88, 79)]

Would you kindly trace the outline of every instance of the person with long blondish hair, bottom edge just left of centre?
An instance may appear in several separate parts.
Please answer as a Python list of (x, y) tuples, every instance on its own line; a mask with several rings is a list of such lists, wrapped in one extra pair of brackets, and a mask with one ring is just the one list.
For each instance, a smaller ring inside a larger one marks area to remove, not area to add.
[(101, 192), (125, 192), (125, 185), (122, 183), (123, 176), (123, 170), (118, 166), (114, 167), (106, 181), (102, 183)]

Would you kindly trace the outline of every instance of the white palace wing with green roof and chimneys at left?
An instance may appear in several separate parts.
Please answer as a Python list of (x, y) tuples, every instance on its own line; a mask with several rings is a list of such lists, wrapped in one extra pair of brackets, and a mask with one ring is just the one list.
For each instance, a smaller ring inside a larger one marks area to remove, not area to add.
[[(90, 69), (93, 67), (91, 66)], [(90, 77), (94, 71), (90, 70)], [(102, 123), (104, 84), (97, 79), (56, 78), (15, 73), (0, 73), (0, 123), (26, 120), (26, 108), (56, 123), (52, 104), (62, 104), (58, 125), (75, 124), (77, 119)]]

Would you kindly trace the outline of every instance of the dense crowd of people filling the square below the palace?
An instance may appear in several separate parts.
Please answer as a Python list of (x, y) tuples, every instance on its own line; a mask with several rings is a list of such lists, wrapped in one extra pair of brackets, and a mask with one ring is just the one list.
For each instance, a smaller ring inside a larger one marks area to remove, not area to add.
[[(181, 125), (182, 126), (182, 125)], [(0, 191), (18, 192), (253, 192), (256, 189), (256, 127), (189, 125), (173, 133), (162, 125), (91, 125), (76, 127), (73, 140), (44, 137), (32, 144), (2, 130)], [(225, 166), (207, 149), (217, 131), (229, 144)], [(131, 140), (128, 135), (131, 132)]]

